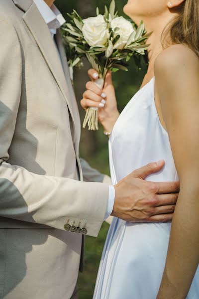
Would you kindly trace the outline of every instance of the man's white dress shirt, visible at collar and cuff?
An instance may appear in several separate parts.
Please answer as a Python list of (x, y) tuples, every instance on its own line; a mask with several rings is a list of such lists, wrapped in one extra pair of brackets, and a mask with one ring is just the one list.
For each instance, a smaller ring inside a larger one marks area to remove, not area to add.
[[(49, 7), (44, 0), (34, 0), (34, 3), (36, 4), (39, 12), (43, 16), (44, 21), (48, 25), (48, 28), (53, 38), (57, 32), (57, 29), (60, 28), (66, 22), (65, 18), (54, 4), (51, 7)], [(115, 188), (110, 185), (108, 192), (108, 203), (104, 219), (107, 219), (112, 213), (114, 199)]]

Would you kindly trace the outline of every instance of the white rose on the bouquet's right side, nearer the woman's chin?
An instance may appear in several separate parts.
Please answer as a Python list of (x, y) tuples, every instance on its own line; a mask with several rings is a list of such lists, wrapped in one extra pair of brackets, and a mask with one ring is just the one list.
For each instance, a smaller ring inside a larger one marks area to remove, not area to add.
[(114, 37), (118, 34), (120, 35), (120, 38), (116, 44), (114, 44), (114, 49), (122, 50), (125, 47), (131, 33), (135, 32), (132, 23), (126, 20), (123, 16), (120, 16), (114, 18), (110, 22), (110, 26), (112, 30), (114, 30), (116, 27), (119, 28), (114, 34)]

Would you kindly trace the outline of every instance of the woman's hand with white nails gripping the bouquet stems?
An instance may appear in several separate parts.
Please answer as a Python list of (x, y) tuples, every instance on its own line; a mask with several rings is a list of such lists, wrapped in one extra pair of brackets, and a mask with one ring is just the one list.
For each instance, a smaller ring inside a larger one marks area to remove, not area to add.
[(88, 74), (91, 81), (86, 84), (87, 90), (83, 94), (81, 105), (84, 109), (87, 109), (88, 107), (98, 107), (99, 122), (106, 132), (112, 132), (114, 124), (119, 117), (119, 112), (117, 110), (111, 72), (107, 72), (103, 89), (100, 89), (94, 82), (99, 78), (97, 71), (90, 69)]

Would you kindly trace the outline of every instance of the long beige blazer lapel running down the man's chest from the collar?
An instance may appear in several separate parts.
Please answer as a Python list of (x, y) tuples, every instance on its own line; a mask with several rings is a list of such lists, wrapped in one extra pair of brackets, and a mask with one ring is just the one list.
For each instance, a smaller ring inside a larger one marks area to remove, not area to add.
[(50, 30), (33, 0), (13, 1), (22, 10), (26, 11), (27, 9), (25, 14), (23, 15), (23, 20), (31, 31), (34, 39), (36, 40), (51, 73), (53, 74), (57, 84), (59, 85), (59, 88), (67, 102), (73, 123), (75, 125), (73, 110), (69, 101), (70, 94), (68, 92), (65, 74), (62, 68), (58, 50), (52, 39)]

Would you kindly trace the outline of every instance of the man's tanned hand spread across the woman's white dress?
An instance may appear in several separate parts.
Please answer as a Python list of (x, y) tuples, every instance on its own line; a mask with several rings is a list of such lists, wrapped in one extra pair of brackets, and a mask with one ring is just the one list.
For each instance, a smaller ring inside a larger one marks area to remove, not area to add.
[(131, 222), (170, 222), (180, 190), (180, 182), (144, 180), (161, 170), (165, 162), (150, 163), (118, 182), (112, 216)]

